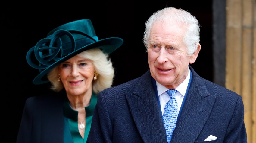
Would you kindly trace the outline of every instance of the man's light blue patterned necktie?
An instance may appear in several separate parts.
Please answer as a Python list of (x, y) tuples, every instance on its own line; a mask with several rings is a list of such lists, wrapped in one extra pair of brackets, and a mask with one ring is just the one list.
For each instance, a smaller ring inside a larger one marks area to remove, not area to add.
[(176, 127), (178, 117), (178, 103), (175, 99), (175, 93), (177, 90), (169, 89), (167, 94), (170, 96), (170, 100), (165, 104), (164, 107), (164, 127), (166, 130), (167, 143), (171, 142), (173, 131)]

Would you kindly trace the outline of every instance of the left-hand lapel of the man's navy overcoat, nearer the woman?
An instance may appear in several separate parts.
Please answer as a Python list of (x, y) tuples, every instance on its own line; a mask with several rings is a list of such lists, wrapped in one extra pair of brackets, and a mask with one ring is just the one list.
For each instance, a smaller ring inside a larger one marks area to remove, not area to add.
[(125, 97), (142, 140), (167, 142), (162, 114), (149, 71), (139, 79), (133, 93), (126, 92)]

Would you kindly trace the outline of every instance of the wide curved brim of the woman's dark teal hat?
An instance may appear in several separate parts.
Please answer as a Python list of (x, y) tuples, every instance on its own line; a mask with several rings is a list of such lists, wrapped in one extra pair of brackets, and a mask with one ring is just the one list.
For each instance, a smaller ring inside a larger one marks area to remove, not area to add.
[(49, 82), (47, 78), (47, 73), (58, 66), (59, 64), (63, 63), (64, 61), (76, 56), (77, 54), (89, 50), (89, 49), (95, 49), (99, 48), (101, 49), (104, 53), (110, 54), (113, 51), (115, 51), (117, 48), (119, 48), (123, 44), (123, 39), (118, 38), (118, 37), (111, 37), (111, 38), (106, 38), (106, 39), (101, 39), (96, 42), (93, 42), (89, 45), (86, 45), (82, 48), (79, 48), (76, 51), (73, 51), (72, 53), (68, 54), (67, 56), (61, 58), (57, 62), (53, 63), (51, 66), (47, 67), (45, 70), (43, 70), (40, 74), (38, 74), (34, 80), (34, 84), (43, 84)]

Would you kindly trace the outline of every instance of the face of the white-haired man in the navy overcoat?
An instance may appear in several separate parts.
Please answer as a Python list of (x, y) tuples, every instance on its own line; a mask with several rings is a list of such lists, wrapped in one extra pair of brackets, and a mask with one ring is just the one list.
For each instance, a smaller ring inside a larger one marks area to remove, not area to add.
[[(168, 89), (175, 89), (188, 75), (192, 56), (187, 56), (183, 42), (185, 27), (175, 22), (151, 27), (148, 43), (148, 64), (152, 77)], [(193, 59), (193, 58), (192, 58)]]

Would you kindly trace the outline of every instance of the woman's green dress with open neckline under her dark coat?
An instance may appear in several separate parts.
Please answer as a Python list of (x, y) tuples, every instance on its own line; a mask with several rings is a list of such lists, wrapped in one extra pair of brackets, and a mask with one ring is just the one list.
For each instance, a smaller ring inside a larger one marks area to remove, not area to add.
[(64, 112), (64, 143), (85, 143), (92, 124), (92, 115), (97, 103), (98, 95), (92, 93), (91, 102), (89, 106), (85, 107), (86, 111), (86, 125), (84, 139), (81, 137), (78, 130), (78, 111), (71, 108), (67, 96), (64, 98), (63, 102), (63, 112)]

